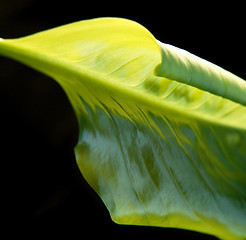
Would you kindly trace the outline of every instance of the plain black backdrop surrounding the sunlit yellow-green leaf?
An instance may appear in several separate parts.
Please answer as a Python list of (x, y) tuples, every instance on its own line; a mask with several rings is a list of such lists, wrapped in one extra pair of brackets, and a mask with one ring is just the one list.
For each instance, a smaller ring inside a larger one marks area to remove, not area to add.
[[(160, 41), (246, 79), (243, 8), (199, 1), (188, 5), (181, 1), (0, 0), (0, 37), (21, 37), (94, 17), (124, 17), (141, 23)], [(10, 235), (215, 239), (185, 230), (113, 223), (77, 168), (73, 147), (78, 126), (63, 90), (47, 76), (2, 57), (0, 120), (4, 222), (0, 228)]]

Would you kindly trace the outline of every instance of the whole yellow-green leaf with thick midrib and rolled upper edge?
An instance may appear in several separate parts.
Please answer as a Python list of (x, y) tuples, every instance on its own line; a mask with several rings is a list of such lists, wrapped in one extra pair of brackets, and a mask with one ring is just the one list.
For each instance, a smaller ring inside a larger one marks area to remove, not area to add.
[(0, 54), (67, 93), (78, 166), (115, 222), (246, 239), (243, 79), (120, 18), (1, 39)]

